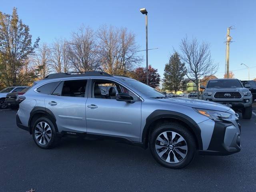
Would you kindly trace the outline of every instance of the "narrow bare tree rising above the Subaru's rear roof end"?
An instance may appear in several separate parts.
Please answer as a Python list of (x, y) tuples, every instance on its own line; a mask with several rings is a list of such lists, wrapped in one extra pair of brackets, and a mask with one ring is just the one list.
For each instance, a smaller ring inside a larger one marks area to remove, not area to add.
[(56, 73), (68, 72), (68, 44), (66, 40), (55, 39), (50, 48), (50, 66)]

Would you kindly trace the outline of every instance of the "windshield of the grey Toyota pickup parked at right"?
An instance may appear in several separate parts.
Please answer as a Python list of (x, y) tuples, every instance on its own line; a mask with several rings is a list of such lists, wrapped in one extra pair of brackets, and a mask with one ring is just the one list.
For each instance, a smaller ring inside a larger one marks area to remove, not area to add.
[(241, 88), (242, 85), (237, 79), (212, 80), (208, 82), (207, 88)]

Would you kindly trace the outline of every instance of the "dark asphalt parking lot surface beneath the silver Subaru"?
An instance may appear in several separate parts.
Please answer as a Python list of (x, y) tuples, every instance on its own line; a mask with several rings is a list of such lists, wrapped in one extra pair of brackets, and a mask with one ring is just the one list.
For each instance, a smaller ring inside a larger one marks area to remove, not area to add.
[(256, 191), (256, 115), (240, 120), (241, 152), (197, 155), (186, 168), (172, 170), (148, 149), (107, 140), (65, 138), (54, 149), (40, 149), (16, 126), (15, 114), (0, 110), (1, 192)]

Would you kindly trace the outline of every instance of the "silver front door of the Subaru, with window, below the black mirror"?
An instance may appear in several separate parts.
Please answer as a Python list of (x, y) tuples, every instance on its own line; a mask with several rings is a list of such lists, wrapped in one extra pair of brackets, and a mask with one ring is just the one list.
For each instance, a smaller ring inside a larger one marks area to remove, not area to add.
[(142, 102), (135, 94), (134, 103), (117, 101), (116, 94), (124, 90), (128, 91), (110, 80), (92, 80), (92, 96), (86, 101), (88, 133), (140, 141)]

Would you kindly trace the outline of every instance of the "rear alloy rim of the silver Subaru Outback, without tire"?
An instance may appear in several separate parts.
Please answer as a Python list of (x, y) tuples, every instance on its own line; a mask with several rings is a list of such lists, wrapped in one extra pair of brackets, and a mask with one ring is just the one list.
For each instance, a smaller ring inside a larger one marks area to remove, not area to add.
[(36, 141), (41, 145), (46, 145), (52, 138), (52, 128), (46, 122), (39, 122), (35, 128)]

